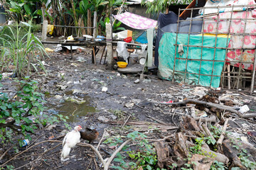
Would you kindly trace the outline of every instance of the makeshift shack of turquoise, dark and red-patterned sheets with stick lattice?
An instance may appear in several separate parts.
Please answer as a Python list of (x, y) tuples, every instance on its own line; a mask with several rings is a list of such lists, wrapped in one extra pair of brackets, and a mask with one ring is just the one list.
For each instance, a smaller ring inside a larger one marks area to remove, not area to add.
[[(224, 0), (207, 1), (201, 8), (180, 9), (178, 15), (161, 13), (155, 55), (156, 65), (159, 59), (159, 77), (228, 89), (246, 88), (248, 81), (252, 92), (255, 8), (254, 0)], [(180, 15), (182, 11), (186, 15)], [(193, 17), (193, 11), (198, 11), (198, 16)], [(190, 17), (184, 20), (178, 16)]]

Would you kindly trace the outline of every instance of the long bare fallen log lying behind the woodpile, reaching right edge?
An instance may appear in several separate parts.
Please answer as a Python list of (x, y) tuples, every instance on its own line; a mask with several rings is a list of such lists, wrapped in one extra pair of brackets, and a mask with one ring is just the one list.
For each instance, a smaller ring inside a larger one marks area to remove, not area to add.
[(230, 111), (231, 113), (235, 113), (236, 115), (238, 115), (240, 118), (255, 118), (256, 117), (256, 113), (242, 114), (230, 106), (224, 106), (224, 105), (220, 105), (220, 104), (216, 104), (216, 103), (209, 103), (206, 101), (197, 101), (197, 100), (193, 100), (193, 99), (188, 99), (186, 101), (181, 101), (181, 102), (176, 102), (176, 103), (161, 103), (161, 102), (152, 102), (152, 103), (161, 104), (161, 105), (175, 105), (175, 106), (186, 105), (188, 103), (189, 104), (199, 104), (199, 105), (204, 105), (204, 106), (208, 106), (208, 107), (212, 107), (212, 108), (218, 108), (218, 109), (225, 110), (225, 111)]

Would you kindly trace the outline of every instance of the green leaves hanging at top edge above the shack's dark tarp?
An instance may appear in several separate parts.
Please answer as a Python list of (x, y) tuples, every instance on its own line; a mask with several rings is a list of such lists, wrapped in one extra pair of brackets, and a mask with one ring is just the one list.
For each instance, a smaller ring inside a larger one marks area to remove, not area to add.
[(190, 4), (192, 0), (153, 0), (147, 1), (142, 0), (142, 5), (146, 6), (147, 10), (146, 13), (159, 13), (166, 11), (166, 8), (169, 5), (176, 5), (176, 4)]

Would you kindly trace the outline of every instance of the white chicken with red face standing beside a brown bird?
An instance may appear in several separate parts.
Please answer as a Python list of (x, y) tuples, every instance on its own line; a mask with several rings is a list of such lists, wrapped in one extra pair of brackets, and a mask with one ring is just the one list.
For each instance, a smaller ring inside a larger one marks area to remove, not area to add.
[(80, 125), (76, 126), (74, 130), (71, 132), (68, 132), (67, 135), (65, 135), (63, 140), (63, 150), (61, 152), (60, 160), (61, 162), (68, 161), (69, 158), (68, 154), (70, 153), (70, 149), (72, 147), (75, 147), (75, 145), (80, 142), (80, 130), (82, 130), (82, 127)]

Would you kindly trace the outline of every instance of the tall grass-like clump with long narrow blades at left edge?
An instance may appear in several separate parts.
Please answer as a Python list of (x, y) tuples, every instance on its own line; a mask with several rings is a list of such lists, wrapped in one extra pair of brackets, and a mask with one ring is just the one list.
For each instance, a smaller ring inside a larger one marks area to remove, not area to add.
[[(23, 26), (16, 26), (16, 28), (7, 26), (1, 32), (0, 44), (4, 48), (4, 54), (2, 53), (0, 58), (0, 63), (4, 63), (1, 69), (3, 67), (7, 68), (12, 63), (16, 67), (14, 72), (18, 77), (28, 76), (31, 67), (36, 71), (38, 71), (38, 67), (46, 71), (37, 51), (41, 52), (42, 55), (47, 54), (42, 42), (31, 33), (32, 22), (21, 23)], [(22, 35), (23, 30), (26, 31), (25, 35)], [(8, 62), (6, 63), (6, 61)], [(36, 64), (38, 67), (36, 67)]]

